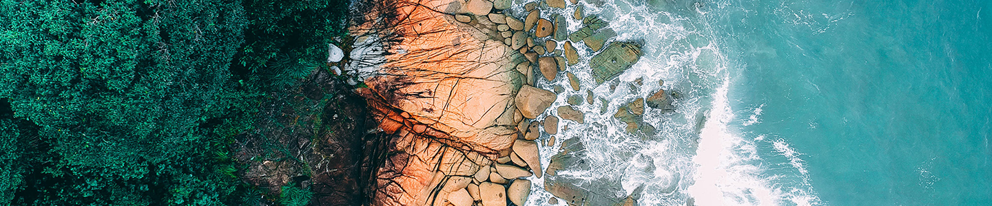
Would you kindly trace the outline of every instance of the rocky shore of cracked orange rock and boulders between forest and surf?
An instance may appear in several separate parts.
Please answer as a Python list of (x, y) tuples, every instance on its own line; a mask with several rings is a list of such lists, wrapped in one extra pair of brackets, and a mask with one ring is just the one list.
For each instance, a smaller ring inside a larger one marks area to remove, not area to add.
[[(567, 130), (559, 123), (583, 124), (584, 114), (574, 106), (592, 104), (594, 95), (585, 88), (584, 98), (568, 96), (569, 105), (552, 113), (564, 88), (552, 91), (536, 82), (561, 76), (580, 91), (578, 78), (566, 70), (590, 59), (579, 56), (578, 50), (586, 50), (597, 54), (589, 67), (577, 69), (592, 69), (601, 84), (637, 62), (641, 45), (609, 42), (617, 34), (597, 16), (583, 14), (577, 0), (530, 2), (525, 12), (513, 12), (510, 0), (394, 3), (373, 11), (396, 13), (369, 14), (353, 26), (351, 56), (360, 60), (344, 69), (368, 85), (356, 92), (368, 99), (379, 128), (393, 137), (392, 152), (376, 175), (374, 205), (524, 205), (537, 185), (530, 176), (544, 175), (544, 189), (556, 196), (549, 204), (635, 204), (636, 194), (592, 194), (587, 188), (610, 185), (556, 176), (588, 166), (577, 155), (583, 152), (578, 139), (558, 144), (559, 153), (542, 165), (539, 148), (556, 146), (553, 135)], [(542, 14), (561, 9), (581, 20), (579, 30), (568, 33), (569, 17)], [(628, 132), (650, 133), (640, 118), (646, 104), (671, 109), (665, 91), (658, 91), (626, 104), (614, 117), (629, 125)]]

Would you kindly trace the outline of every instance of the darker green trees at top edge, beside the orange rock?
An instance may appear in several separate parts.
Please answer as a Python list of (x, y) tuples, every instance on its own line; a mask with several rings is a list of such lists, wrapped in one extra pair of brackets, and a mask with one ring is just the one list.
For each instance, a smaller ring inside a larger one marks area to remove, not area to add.
[(267, 89), (292, 85), (327, 59), (327, 44), (347, 34), (348, 0), (244, 0), (245, 47), (232, 65)]

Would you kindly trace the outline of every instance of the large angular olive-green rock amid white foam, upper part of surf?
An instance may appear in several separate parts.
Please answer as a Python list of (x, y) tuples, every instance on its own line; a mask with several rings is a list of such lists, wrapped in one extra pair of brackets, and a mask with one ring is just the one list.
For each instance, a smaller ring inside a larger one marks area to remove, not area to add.
[(605, 50), (592, 56), (589, 66), (592, 67), (592, 78), (596, 83), (613, 78), (637, 62), (641, 57), (641, 46), (633, 43), (613, 43)]

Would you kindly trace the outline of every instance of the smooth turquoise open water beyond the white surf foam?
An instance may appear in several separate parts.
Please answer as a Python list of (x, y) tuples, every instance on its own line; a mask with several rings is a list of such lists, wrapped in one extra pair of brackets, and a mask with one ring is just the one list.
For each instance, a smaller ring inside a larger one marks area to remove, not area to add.
[(992, 1), (707, 6), (729, 128), (773, 183), (826, 205), (992, 204)]

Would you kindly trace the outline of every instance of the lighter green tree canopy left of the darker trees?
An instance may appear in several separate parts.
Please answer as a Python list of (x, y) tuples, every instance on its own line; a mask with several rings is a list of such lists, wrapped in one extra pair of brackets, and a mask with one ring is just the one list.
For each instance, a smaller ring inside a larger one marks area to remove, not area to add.
[(218, 205), (206, 120), (239, 104), (231, 0), (0, 2), (0, 98), (52, 147), (17, 204)]

